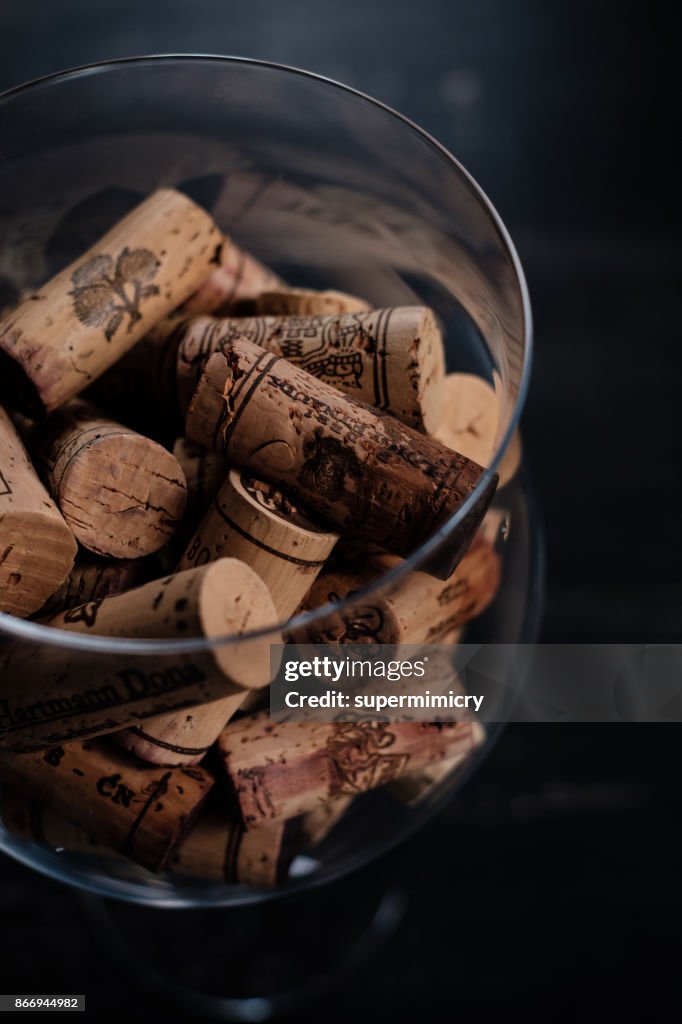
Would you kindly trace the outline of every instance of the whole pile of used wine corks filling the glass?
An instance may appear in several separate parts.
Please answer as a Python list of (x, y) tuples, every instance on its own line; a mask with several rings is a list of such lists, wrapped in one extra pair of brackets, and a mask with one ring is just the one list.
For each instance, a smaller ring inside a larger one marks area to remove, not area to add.
[(0, 620), (8, 829), (272, 886), (355, 796), (423, 800), (481, 743), (470, 715), (263, 710), (301, 610), (338, 606), (306, 643), (455, 643), (495, 597), (495, 477), (428, 570), (361, 596), (494, 452), (496, 392), (445, 375), (431, 310), (289, 287), (163, 189), (3, 311), (0, 394), (0, 611), (55, 631)]

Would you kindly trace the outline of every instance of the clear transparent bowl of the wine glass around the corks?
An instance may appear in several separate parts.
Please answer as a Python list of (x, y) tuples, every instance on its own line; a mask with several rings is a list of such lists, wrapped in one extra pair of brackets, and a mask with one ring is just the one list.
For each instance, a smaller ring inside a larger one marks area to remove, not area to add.
[[(434, 564), (502, 459), (528, 381), (527, 290), (488, 200), (416, 125), (314, 75), (209, 56), (77, 69), (0, 97), (0, 304), (76, 258), (160, 186), (187, 191), (239, 245), (294, 286), (355, 293), (377, 307), (431, 306), (443, 330), (447, 370), (476, 373), (494, 385), (500, 418), (488, 472), (428, 543), (348, 603), (386, 594), (408, 573)], [(518, 482), (496, 504), (511, 510), (513, 527), (500, 593), (473, 635), (487, 642), (528, 640), (537, 611), (536, 526)], [(308, 612), (289, 628), (322, 621), (329, 611)], [(267, 641), (267, 632), (259, 636)], [(0, 614), (0, 652), (10, 646), (34, 673), (57, 660), (96, 678), (117, 659), (163, 672), (178, 658), (209, 657), (213, 647), (253, 639), (116, 640)], [(403, 839), (475, 767), (494, 735), (488, 729), (466, 770), (416, 807), (383, 791), (361, 796), (321, 847), (294, 860), (276, 892), (339, 877)], [(229, 905), (270, 895), (157, 877), (119, 858), (48, 849), (4, 828), (0, 848), (73, 885), (142, 903)]]

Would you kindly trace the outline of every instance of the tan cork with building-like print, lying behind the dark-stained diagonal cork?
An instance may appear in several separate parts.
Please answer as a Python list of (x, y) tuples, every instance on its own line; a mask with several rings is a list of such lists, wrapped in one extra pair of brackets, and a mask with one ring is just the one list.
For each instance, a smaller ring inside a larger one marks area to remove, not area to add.
[(177, 353), (183, 412), (207, 358), (214, 352), (228, 352), (242, 339), (416, 430), (431, 433), (440, 421), (442, 339), (433, 313), (423, 306), (334, 316), (190, 321)]

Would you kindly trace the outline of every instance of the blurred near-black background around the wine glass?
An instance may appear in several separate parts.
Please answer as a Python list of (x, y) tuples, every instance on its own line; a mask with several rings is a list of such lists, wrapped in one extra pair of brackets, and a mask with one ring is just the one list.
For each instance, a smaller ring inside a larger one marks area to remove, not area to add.
[[(626, 2), (3, 0), (0, 88), (116, 56), (220, 52), (337, 78), (435, 135), (492, 198), (528, 276), (543, 639), (676, 641), (672, 34), (660, 8)], [(461, 799), (381, 868), (407, 879), (406, 923), (325, 1016), (489, 1019), (529, 1000), (589, 1016), (591, 982), (611, 1008), (642, 996), (650, 1010), (679, 953), (679, 742), (676, 726), (509, 729)], [(344, 892), (312, 925), (291, 913), (291, 942), (333, 931)], [(3, 861), (0, 915), (0, 989), (85, 990), (91, 1008), (126, 1012), (132, 982), (95, 953), (72, 893)], [(143, 1012), (186, 1019), (161, 998)]]

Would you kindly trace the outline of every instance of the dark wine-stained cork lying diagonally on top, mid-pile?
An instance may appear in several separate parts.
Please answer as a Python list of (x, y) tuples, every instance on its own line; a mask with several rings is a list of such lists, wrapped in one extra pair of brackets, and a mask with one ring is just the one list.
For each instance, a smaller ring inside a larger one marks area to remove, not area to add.
[[(227, 356), (216, 352), (209, 358), (186, 433), (342, 530), (394, 554), (408, 554), (432, 537), (483, 472), (249, 341), (236, 341)], [(451, 574), (496, 481), (494, 475), (429, 571)]]

